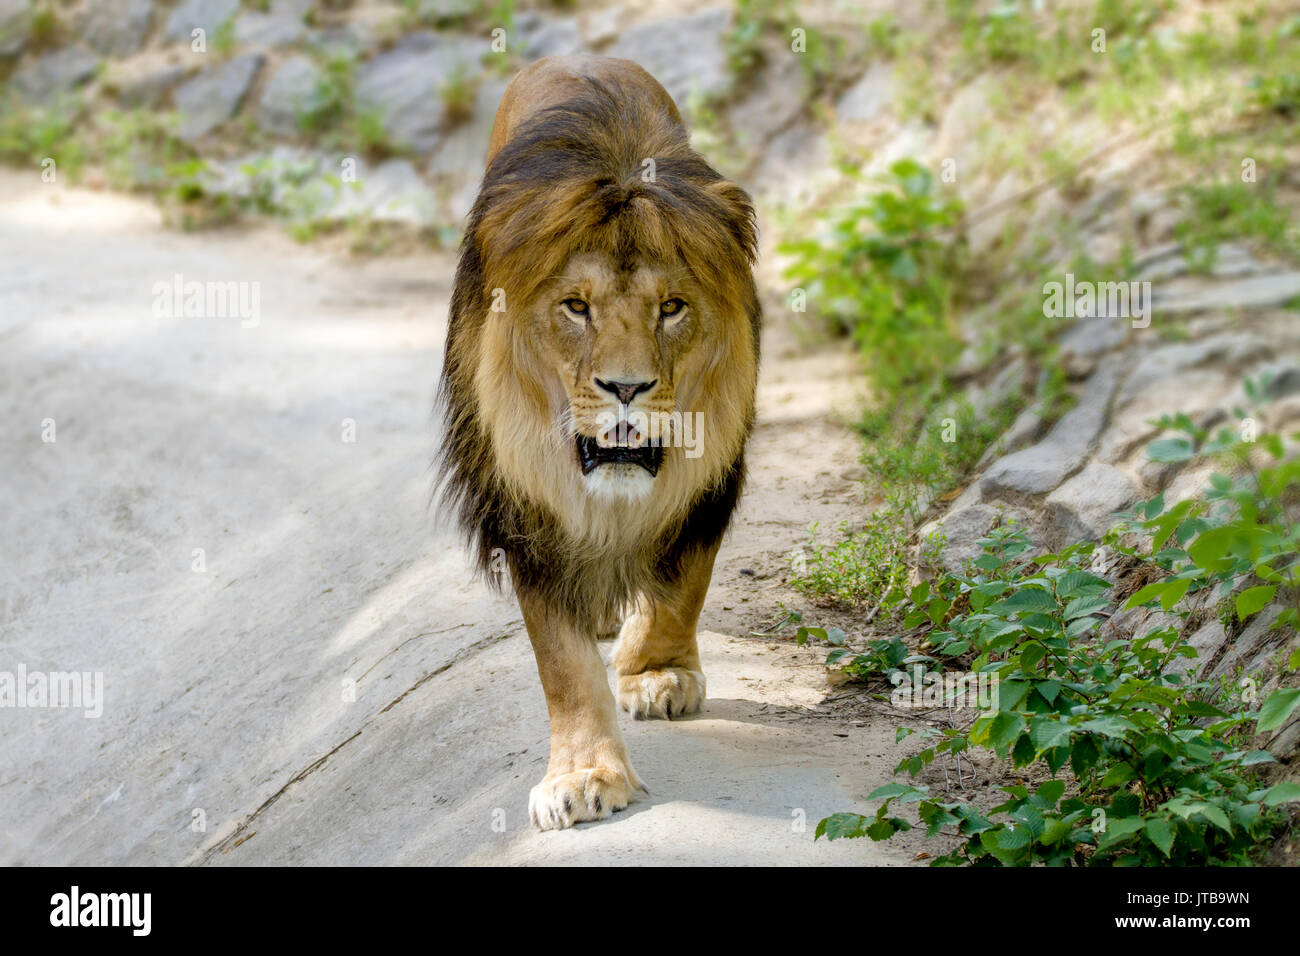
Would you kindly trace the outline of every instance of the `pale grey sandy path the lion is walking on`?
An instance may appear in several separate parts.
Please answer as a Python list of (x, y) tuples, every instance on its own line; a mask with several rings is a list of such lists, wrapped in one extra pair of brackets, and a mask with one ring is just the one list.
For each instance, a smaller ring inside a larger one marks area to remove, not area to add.
[[(824, 652), (751, 636), (806, 528), (861, 510), (852, 358), (781, 316), (705, 711), (624, 719), (650, 797), (530, 829), (528, 639), (429, 503), (451, 269), (0, 174), (0, 671), (104, 680), (99, 718), (0, 709), (0, 862), (910, 862), (812, 840), (889, 779), (896, 722), (837, 715)], [(260, 321), (155, 315), (177, 274), (259, 282)]]

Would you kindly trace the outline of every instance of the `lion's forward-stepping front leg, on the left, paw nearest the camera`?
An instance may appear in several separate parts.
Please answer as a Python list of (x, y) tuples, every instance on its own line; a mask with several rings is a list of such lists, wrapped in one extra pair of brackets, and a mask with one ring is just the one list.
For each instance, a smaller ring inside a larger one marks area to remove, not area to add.
[(551, 758), (528, 813), (542, 830), (604, 819), (644, 787), (628, 761), (595, 639), (536, 597), (521, 594), (519, 604), (551, 715)]

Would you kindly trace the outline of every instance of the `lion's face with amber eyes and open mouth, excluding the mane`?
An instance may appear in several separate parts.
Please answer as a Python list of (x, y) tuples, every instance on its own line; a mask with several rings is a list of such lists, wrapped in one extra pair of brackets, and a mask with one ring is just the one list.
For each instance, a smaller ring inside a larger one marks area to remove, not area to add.
[(702, 411), (679, 399), (699, 371), (690, 359), (707, 346), (710, 312), (681, 263), (582, 252), (542, 286), (534, 341), (563, 389), (556, 421), (588, 493), (644, 498), (668, 449), (699, 453)]

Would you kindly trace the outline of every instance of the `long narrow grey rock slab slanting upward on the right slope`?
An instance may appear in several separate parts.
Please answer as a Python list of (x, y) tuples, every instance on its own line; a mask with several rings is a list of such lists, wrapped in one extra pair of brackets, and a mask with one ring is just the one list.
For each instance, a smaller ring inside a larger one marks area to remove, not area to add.
[(1054, 490), (1088, 458), (1106, 423), (1121, 363), (1102, 365), (1084, 386), (1079, 403), (1037, 445), (1000, 458), (980, 479), (985, 501), (1023, 501)]

